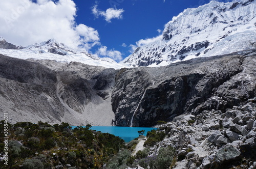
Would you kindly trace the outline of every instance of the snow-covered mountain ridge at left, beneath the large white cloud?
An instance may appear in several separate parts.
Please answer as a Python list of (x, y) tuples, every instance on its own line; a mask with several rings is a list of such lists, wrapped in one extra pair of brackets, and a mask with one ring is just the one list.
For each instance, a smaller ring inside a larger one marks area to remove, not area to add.
[[(18, 50), (17, 50), (18, 49)], [(27, 47), (16, 46), (0, 37), (0, 53), (18, 59), (53, 60), (57, 62), (80, 62), (92, 66), (120, 69), (125, 67), (111, 58), (99, 58), (82, 49), (72, 49), (55, 39), (35, 43)]]

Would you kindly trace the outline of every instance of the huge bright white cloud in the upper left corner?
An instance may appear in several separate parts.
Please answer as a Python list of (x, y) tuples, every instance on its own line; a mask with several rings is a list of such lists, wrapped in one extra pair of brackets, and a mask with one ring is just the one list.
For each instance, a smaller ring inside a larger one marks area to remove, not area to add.
[(16, 45), (27, 46), (51, 38), (70, 47), (90, 50), (99, 44), (97, 30), (75, 22), (72, 0), (1, 0), (0, 36)]

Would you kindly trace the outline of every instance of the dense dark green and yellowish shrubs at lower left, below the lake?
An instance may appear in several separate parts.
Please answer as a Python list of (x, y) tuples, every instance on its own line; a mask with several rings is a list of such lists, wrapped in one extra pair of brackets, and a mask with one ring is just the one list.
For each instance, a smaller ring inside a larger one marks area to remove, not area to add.
[[(4, 121), (0, 128), (4, 128)], [(71, 129), (68, 123), (49, 125), (38, 122), (8, 124), (8, 166), (0, 168), (55, 168), (70, 164), (73, 168), (101, 168), (121, 148), (124, 140), (109, 133), (90, 130), (91, 125)], [(4, 131), (0, 133), (4, 151)], [(0, 152), (3, 154), (4, 152)], [(70, 167), (70, 168), (72, 168)]]

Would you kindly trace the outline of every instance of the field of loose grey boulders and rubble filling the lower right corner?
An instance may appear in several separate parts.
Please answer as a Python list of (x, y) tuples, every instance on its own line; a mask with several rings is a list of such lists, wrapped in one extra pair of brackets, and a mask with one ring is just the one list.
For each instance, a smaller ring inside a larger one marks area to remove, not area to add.
[(157, 154), (159, 147), (172, 146), (178, 157), (177, 169), (256, 167), (256, 98), (224, 114), (205, 110), (197, 116), (181, 115), (159, 128), (166, 136), (151, 147), (149, 156)]

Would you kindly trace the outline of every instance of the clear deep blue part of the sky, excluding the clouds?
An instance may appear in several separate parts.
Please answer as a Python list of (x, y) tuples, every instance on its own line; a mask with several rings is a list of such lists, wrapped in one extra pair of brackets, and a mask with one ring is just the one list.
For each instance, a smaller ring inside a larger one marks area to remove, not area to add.
[[(113, 1), (80, 1), (74, 0), (78, 11), (77, 23), (93, 27), (99, 33), (100, 42), (108, 49), (120, 51), (125, 58), (131, 54), (130, 45), (136, 45), (140, 39), (153, 38), (163, 31), (164, 24), (172, 20), (186, 8), (198, 7), (209, 3), (201, 0), (180, 0), (165, 2), (160, 0), (113, 0)], [(119, 2), (119, 3), (118, 3)], [(98, 9), (105, 11), (109, 8), (123, 9), (121, 19), (106, 22), (104, 17), (95, 18), (92, 7), (97, 4)], [(122, 44), (125, 45), (122, 46)], [(92, 50), (95, 50), (95, 46)]]

